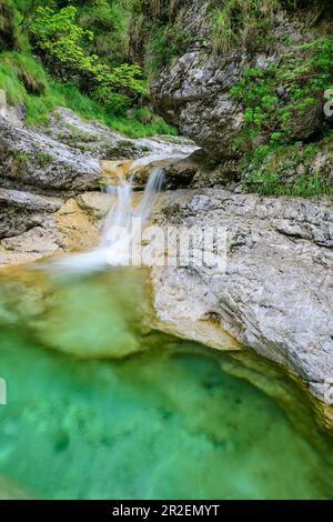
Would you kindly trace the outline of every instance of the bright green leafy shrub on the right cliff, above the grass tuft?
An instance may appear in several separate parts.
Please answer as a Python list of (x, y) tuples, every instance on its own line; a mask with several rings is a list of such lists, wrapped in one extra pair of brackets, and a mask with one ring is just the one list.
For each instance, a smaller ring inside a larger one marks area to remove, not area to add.
[(323, 103), (332, 73), (331, 38), (294, 49), (282, 57), (280, 66), (248, 69), (231, 90), (245, 107), (243, 132), (235, 148), (252, 150), (263, 141), (281, 143), (297, 139), (306, 112)]

